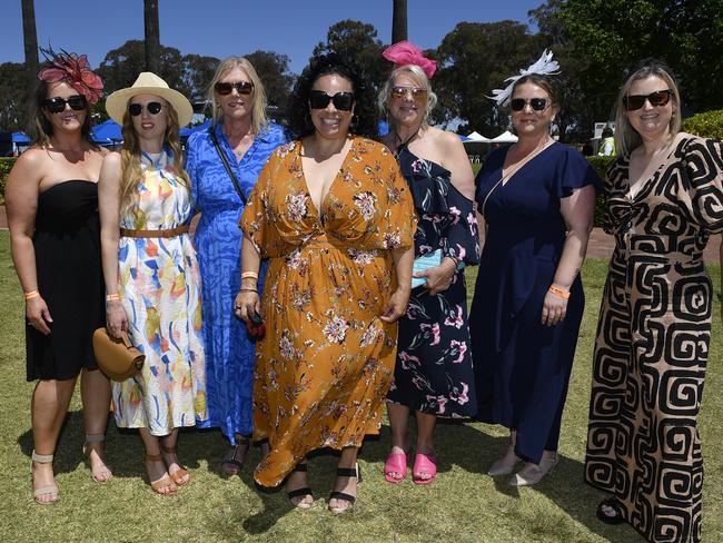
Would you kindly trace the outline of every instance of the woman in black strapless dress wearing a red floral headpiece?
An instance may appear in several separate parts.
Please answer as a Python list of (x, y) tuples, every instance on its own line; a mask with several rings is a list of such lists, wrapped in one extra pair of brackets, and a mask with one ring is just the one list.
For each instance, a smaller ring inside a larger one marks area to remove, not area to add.
[(95, 481), (103, 461), (110, 384), (98, 371), (92, 332), (105, 324), (96, 182), (105, 151), (90, 140), (90, 103), (102, 82), (86, 57), (55, 55), (36, 93), (34, 145), (10, 171), (7, 211), (12, 259), (24, 290), (32, 395), (32, 486), (37, 503), (59, 497), (52, 460), (82, 369), (85, 454)]

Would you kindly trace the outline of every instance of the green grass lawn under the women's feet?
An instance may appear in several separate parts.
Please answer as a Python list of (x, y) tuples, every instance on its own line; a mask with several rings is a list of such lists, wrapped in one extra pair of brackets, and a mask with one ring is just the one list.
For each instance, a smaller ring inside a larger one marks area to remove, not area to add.
[[(241, 477), (222, 478), (217, 465), (226, 442), (216, 431), (184, 432), (181, 460), (190, 467), (190, 486), (168, 498), (143, 482), (140, 437), (108, 431), (108, 460), (115, 478), (93, 483), (83, 464), (79, 394), (62, 432), (56, 460), (61, 498), (55, 505), (33, 504), (30, 486), (30, 395), (24, 381), (23, 305), (9, 254), (8, 233), (0, 231), (0, 541), (455, 541), (455, 542), (634, 542), (627, 525), (607, 526), (595, 517), (603, 494), (583, 483), (591, 358), (606, 263), (591, 260), (583, 276), (587, 295), (585, 319), (561, 437), (562, 462), (536, 487), (515, 490), (505, 477), (493, 480), (486, 468), (505, 447), (505, 432), (484, 424), (442, 423), (437, 428), (439, 476), (416, 486), (409, 480), (390, 485), (382, 470), (389, 430), (367, 440), (360, 464), (364, 482), (353, 513), (334, 516), (326, 510), (336, 460), (310, 460), (317, 498), (310, 510), (293, 510), (283, 492), (255, 487), (252, 451)], [(711, 267), (715, 284), (719, 268)], [(468, 270), (473, 276), (474, 269)], [(472, 277), (471, 277), (472, 278)], [(472, 285), (472, 283), (471, 283)], [(723, 536), (723, 345), (720, 306), (701, 415), (705, 455), (704, 541)]]

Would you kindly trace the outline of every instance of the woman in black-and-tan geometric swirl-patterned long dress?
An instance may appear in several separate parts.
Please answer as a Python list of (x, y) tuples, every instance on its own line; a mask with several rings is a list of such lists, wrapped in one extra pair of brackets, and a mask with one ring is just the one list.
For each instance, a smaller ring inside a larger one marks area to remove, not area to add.
[(703, 249), (723, 233), (723, 147), (680, 131), (679, 88), (656, 60), (638, 65), (615, 109), (621, 154), (605, 179), (615, 250), (595, 340), (585, 478), (612, 493), (597, 507), (603, 522), (627, 522), (652, 542), (700, 542), (697, 416), (714, 308)]

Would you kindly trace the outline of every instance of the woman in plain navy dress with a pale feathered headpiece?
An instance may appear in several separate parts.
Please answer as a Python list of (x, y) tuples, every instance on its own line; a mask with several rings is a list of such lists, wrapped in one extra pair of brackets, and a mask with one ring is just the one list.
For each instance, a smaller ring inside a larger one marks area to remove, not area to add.
[(524, 460), (511, 480), (521, 486), (557, 463), (600, 179), (582, 155), (552, 139), (557, 105), (547, 77), (523, 76), (511, 96), (519, 140), (492, 152), (476, 179), (487, 233), (469, 328), (477, 416), (511, 431), (509, 448), (488, 473), (512, 474)]

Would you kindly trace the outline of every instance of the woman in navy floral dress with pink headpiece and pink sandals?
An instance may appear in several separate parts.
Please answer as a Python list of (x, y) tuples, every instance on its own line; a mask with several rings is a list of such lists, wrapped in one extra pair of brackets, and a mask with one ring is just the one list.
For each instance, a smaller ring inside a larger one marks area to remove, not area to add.
[(407, 53), (405, 63), (392, 72), (379, 95), (379, 106), (393, 125), (385, 144), (395, 151), (419, 215), (415, 258), (438, 253), (440, 260), (417, 274), (426, 283), (412, 290), (407, 314), (399, 319), (397, 364), (387, 395), (392, 451), (384, 471), (389, 483), (406, 476), (413, 409), (417, 421), (413, 481), (429, 484), (436, 476), (437, 417), (471, 417), (477, 408), (460, 264), (477, 264), (479, 244), (473, 172), (462, 141), (426, 122), (436, 102), (428, 80), (434, 69), (408, 42), (393, 46), (385, 57), (396, 60), (399, 48)]

